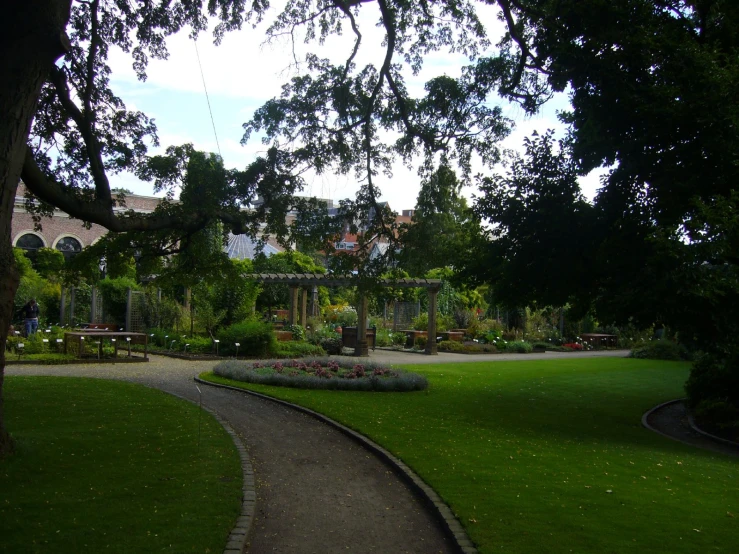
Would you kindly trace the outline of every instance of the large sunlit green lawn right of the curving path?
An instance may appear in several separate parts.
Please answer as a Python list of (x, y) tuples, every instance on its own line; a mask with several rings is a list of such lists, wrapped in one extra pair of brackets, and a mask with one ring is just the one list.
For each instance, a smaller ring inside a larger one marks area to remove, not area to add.
[(739, 460), (640, 424), (688, 365), (623, 358), (409, 365), (426, 392), (249, 388), (394, 452), (482, 552), (734, 552)]

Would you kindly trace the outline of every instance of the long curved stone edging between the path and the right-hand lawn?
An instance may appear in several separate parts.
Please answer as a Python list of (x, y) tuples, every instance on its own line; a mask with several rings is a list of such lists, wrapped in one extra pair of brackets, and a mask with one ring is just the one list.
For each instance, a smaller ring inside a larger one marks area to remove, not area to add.
[[(393, 470), (397, 472), (397, 474), (403, 479), (403, 481), (405, 481), (405, 483), (420, 498), (422, 498), (428, 504), (428, 506), (432, 509), (432, 511), (436, 514), (436, 516), (439, 518), (440, 522), (442, 523), (443, 530), (454, 541), (454, 544), (456, 544), (460, 553), (478, 554), (477, 548), (470, 540), (469, 536), (467, 535), (467, 532), (464, 530), (464, 527), (462, 527), (462, 524), (459, 523), (459, 520), (456, 518), (452, 510), (449, 508), (449, 506), (446, 505), (446, 503), (441, 499), (441, 497), (436, 493), (436, 491), (432, 489), (430, 486), (428, 486), (426, 482), (423, 481), (423, 479), (421, 479), (418, 475), (416, 475), (416, 473), (411, 468), (409, 468), (405, 463), (403, 463), (403, 461), (395, 457), (393, 454), (391, 454), (388, 450), (384, 449), (379, 444), (368, 439), (364, 435), (354, 431), (353, 429), (350, 429), (349, 427), (342, 425), (338, 421), (335, 421), (331, 419), (330, 417), (327, 417), (309, 408), (305, 408), (303, 406), (292, 404), (285, 400), (280, 400), (279, 398), (273, 398), (271, 396), (267, 396), (266, 394), (261, 394), (261, 393), (250, 391), (247, 389), (231, 387), (229, 385), (222, 385), (220, 383), (211, 383), (209, 381), (204, 381), (203, 379), (200, 379), (198, 377), (195, 377), (194, 380), (196, 383), (201, 383), (203, 385), (224, 388), (228, 390), (241, 392), (244, 394), (250, 394), (252, 396), (256, 396), (264, 400), (269, 400), (271, 402), (281, 404), (287, 408), (291, 408), (293, 410), (297, 410), (306, 415), (314, 417), (318, 419), (319, 421), (337, 429), (338, 431), (341, 431), (342, 433), (347, 435), (349, 438), (353, 439), (355, 442), (357, 442), (358, 444), (360, 444), (361, 446), (363, 446), (370, 452), (374, 453), (378, 458), (383, 460), (385, 463), (388, 464), (389, 467), (391, 467)], [(231, 554), (231, 551), (227, 550), (226, 552), (228, 554)]]

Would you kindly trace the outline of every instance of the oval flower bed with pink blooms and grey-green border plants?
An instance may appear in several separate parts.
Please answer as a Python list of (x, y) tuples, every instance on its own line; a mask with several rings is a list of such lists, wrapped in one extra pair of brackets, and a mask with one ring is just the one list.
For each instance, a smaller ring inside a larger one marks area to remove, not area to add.
[(426, 378), (372, 362), (337, 361), (329, 358), (221, 362), (213, 373), (234, 381), (293, 387), (378, 392), (424, 390)]

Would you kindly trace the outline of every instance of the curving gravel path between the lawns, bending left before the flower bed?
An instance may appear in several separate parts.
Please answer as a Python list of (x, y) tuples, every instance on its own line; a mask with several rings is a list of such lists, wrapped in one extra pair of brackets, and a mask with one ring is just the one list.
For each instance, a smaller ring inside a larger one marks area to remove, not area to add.
[[(125, 379), (197, 401), (192, 379), (212, 366), (152, 356), (140, 364), (8, 366), (6, 373)], [(242, 437), (254, 467), (250, 554), (457, 551), (397, 475), (339, 431), (273, 402), (200, 388), (203, 405)]]

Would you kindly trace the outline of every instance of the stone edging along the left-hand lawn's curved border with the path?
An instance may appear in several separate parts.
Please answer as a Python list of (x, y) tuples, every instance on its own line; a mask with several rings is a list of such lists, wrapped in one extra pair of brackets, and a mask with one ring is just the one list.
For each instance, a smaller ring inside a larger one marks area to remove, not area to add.
[[(200, 380), (196, 379), (196, 381)], [(204, 383), (204, 381), (200, 382)], [(167, 392), (167, 394), (171, 394), (172, 396), (175, 396), (192, 404), (197, 404), (196, 402), (193, 402), (192, 399), (185, 398), (184, 396), (180, 396), (179, 394), (174, 394), (172, 392)], [(202, 410), (205, 410), (210, 415), (212, 415), (216, 419), (216, 421), (221, 424), (223, 429), (229, 435), (231, 435), (231, 440), (234, 441), (236, 450), (239, 453), (239, 458), (241, 458), (241, 471), (243, 472), (243, 485), (241, 489), (243, 500), (241, 501), (241, 515), (236, 519), (236, 524), (234, 525), (234, 528), (231, 529), (231, 533), (228, 535), (228, 539), (226, 540), (226, 547), (223, 550), (223, 554), (242, 554), (246, 548), (246, 540), (249, 537), (249, 533), (251, 532), (251, 525), (254, 522), (254, 513), (256, 511), (257, 505), (257, 492), (254, 483), (254, 469), (252, 468), (251, 460), (249, 460), (249, 454), (247, 453), (246, 445), (244, 445), (244, 442), (241, 440), (241, 438), (231, 428), (231, 425), (228, 423), (228, 421), (223, 419), (214, 410), (203, 406), (202, 404), (200, 404), (199, 406)]]

